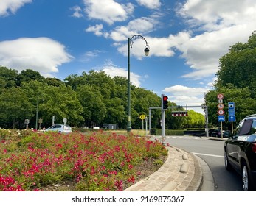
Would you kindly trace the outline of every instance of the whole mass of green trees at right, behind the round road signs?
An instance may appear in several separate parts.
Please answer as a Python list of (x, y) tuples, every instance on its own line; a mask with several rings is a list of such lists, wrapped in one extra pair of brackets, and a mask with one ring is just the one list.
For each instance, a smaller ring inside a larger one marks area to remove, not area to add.
[[(228, 114), (228, 102), (235, 102), (236, 123), (245, 116), (256, 113), (256, 32), (252, 32), (247, 43), (235, 43), (229, 52), (220, 58), (215, 89), (205, 96), (209, 122), (213, 127), (217, 121), (217, 94), (224, 94), (224, 111)], [(231, 129), (228, 119), (224, 129)]]

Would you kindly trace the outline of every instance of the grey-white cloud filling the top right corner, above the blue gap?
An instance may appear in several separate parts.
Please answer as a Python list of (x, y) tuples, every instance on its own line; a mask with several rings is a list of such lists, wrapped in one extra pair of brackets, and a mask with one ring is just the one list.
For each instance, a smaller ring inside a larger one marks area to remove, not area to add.
[[(254, 0), (188, 0), (179, 13), (193, 25), (203, 25), (204, 29), (221, 29), (226, 26), (243, 24), (244, 20), (255, 18)], [(212, 27), (213, 26), (213, 27)]]

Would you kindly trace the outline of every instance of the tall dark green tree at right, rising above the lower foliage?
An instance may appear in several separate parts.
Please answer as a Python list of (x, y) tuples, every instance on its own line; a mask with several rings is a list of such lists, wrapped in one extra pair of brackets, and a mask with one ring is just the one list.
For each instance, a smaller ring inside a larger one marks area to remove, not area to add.
[(252, 32), (247, 43), (235, 43), (229, 53), (220, 58), (216, 88), (229, 84), (236, 88), (246, 88), (256, 97), (256, 31)]

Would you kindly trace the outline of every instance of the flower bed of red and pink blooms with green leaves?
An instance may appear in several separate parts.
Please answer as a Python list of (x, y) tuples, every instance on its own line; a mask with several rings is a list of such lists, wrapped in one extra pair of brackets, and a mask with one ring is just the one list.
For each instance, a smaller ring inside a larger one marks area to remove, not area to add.
[(102, 131), (1, 132), (0, 191), (44, 191), (63, 182), (72, 182), (72, 191), (122, 191), (139, 178), (139, 165), (167, 155), (158, 141)]

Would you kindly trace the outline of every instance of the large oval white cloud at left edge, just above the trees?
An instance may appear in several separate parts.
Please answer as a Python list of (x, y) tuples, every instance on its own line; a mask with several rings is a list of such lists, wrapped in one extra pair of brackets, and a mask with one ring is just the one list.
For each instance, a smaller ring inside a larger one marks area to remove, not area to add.
[(72, 56), (65, 46), (50, 38), (19, 38), (0, 42), (0, 65), (18, 71), (30, 68), (43, 75), (58, 72)]

